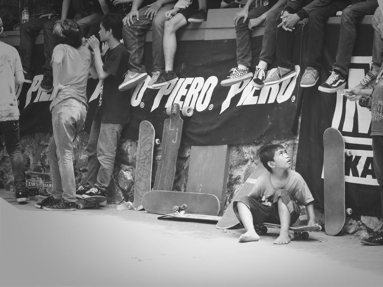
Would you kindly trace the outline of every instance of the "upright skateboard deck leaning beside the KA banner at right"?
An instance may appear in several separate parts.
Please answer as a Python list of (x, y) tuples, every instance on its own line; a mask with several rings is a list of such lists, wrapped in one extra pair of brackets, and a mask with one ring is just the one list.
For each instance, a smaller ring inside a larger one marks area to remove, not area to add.
[(323, 134), (324, 227), (337, 235), (345, 223), (344, 140), (339, 130), (329, 127)]

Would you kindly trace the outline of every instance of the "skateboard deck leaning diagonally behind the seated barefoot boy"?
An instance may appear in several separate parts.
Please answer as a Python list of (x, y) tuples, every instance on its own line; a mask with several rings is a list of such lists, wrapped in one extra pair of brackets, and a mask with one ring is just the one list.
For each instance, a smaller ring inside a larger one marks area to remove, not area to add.
[(237, 192), (237, 194), (232, 199), (231, 203), (229, 204), (228, 208), (224, 212), (222, 218), (218, 221), (216, 228), (218, 229), (228, 229), (236, 226), (239, 224), (239, 220), (237, 219), (234, 210), (233, 210), (233, 202), (238, 199), (238, 197), (243, 195), (249, 195), (252, 189), (255, 186), (255, 182), (257, 181), (257, 178), (264, 174), (267, 170), (264, 168), (263, 165), (257, 166), (257, 168), (253, 171), (252, 174), (250, 174), (249, 178), (245, 181), (241, 189)]

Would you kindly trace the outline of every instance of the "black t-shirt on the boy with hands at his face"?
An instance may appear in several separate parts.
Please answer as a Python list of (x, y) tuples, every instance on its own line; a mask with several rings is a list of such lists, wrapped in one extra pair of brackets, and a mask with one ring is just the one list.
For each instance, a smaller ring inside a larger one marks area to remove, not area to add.
[(124, 73), (128, 70), (128, 52), (123, 44), (106, 51), (102, 68), (110, 75), (104, 79), (101, 107), (97, 108), (94, 120), (107, 124), (128, 123), (131, 90), (118, 90), (124, 80)]

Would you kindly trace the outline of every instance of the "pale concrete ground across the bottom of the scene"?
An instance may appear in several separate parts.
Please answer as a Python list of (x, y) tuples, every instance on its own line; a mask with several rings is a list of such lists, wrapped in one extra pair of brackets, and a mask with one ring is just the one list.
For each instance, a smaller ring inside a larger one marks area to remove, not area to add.
[[(278, 230), (238, 243), (243, 228), (158, 220), (146, 211), (53, 212), (0, 189), (1, 286), (382, 286), (383, 246)], [(41, 198), (40, 198), (41, 200)]]

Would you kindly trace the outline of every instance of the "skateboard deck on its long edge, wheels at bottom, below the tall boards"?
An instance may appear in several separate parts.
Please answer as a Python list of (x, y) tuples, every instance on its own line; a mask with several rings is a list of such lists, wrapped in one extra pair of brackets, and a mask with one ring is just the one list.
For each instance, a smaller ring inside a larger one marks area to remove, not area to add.
[(218, 215), (219, 200), (213, 194), (152, 190), (142, 196), (142, 205), (147, 212), (170, 214), (173, 207), (187, 205), (188, 214)]

